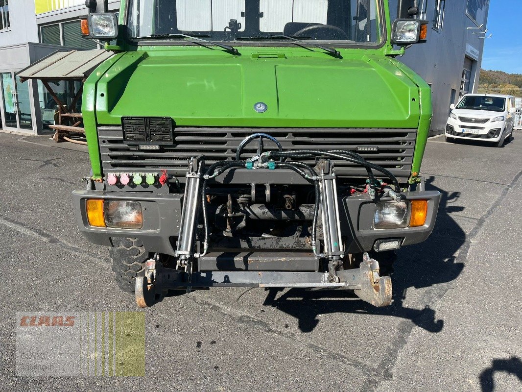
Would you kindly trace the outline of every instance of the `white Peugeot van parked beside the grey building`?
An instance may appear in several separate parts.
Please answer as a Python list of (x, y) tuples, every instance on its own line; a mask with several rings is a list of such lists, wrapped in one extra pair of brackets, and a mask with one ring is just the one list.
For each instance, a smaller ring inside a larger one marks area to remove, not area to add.
[(466, 94), (449, 107), (446, 142), (484, 140), (502, 147), (515, 126), (515, 97), (500, 94)]

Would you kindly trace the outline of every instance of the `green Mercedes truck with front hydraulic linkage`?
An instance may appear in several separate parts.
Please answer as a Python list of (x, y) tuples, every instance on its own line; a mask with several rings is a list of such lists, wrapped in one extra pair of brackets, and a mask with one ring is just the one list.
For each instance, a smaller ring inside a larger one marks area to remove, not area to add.
[(82, 30), (81, 232), (138, 306), (169, 290), (305, 287), (392, 301), (402, 246), (432, 232), (419, 175), (430, 87), (395, 57), (411, 0), (122, 0)]

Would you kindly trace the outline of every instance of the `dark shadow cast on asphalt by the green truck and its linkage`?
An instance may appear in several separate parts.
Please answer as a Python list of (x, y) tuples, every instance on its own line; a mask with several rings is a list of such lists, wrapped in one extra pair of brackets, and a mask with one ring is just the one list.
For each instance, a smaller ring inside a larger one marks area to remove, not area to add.
[[(397, 262), (394, 264), (395, 273), (392, 276), (391, 305), (378, 308), (361, 300), (350, 299), (355, 297), (351, 291), (326, 292), (305, 289), (291, 289), (280, 297), (277, 297), (277, 294), (281, 289), (267, 289), (268, 295), (264, 305), (275, 307), (298, 319), (302, 332), (313, 331), (319, 322), (318, 315), (328, 313), (402, 317), (426, 331), (441, 331), (444, 321), (435, 320), (435, 311), (430, 308), (429, 303), (421, 310), (403, 304), (409, 287), (421, 289), (450, 282), (456, 279), (464, 268), (464, 263), (457, 261), (454, 255), (465, 243), (466, 234), (451, 217), (453, 212), (464, 210), (464, 207), (452, 205), (460, 197), (460, 192), (448, 193), (435, 187), (433, 180), (434, 177), (430, 177), (426, 181), (426, 190), (438, 190), (442, 194), (435, 228), (424, 243), (406, 247), (398, 252)], [(432, 290), (432, 293), (433, 297), (425, 301), (432, 302), (435, 299), (437, 290)]]

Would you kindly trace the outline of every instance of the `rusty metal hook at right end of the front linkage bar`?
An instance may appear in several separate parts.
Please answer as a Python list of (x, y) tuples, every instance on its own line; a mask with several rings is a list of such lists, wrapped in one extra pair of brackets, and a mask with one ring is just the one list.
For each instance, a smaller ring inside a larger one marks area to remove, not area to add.
[(379, 263), (364, 253), (360, 264), (361, 288), (354, 293), (374, 306), (388, 306), (392, 302), (392, 279), (389, 276), (379, 276)]

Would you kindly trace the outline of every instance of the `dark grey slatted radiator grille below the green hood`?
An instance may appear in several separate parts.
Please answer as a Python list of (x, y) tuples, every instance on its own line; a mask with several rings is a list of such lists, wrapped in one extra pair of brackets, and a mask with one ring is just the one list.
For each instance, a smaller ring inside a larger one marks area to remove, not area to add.
[[(416, 129), (245, 129), (176, 127), (174, 142), (163, 144), (158, 151), (141, 151), (138, 146), (127, 145), (123, 132), (117, 126), (101, 126), (98, 129), (102, 165), (105, 171), (138, 171), (167, 169), (175, 176), (184, 176), (187, 160), (205, 154), (206, 164), (219, 160), (235, 159), (235, 151), (241, 141), (256, 132), (268, 133), (281, 143), (284, 149), (352, 149), (378, 147), (378, 152), (359, 153), (370, 162), (392, 171), (397, 177), (411, 174)], [(276, 146), (264, 140), (265, 151)], [(257, 142), (243, 150), (242, 158), (255, 155)], [(374, 149), (375, 150), (375, 149)], [(315, 161), (310, 161), (315, 164)], [(346, 161), (336, 162), (337, 174), (345, 177), (365, 177), (364, 168)]]

